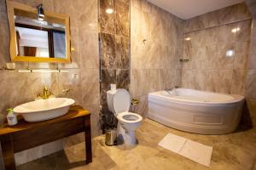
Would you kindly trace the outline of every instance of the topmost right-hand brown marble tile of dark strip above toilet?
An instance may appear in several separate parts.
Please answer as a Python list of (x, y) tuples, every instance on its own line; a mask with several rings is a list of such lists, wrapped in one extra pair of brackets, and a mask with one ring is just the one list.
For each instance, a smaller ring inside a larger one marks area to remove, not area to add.
[(116, 1), (116, 35), (129, 37), (130, 36), (130, 8), (129, 1)]

